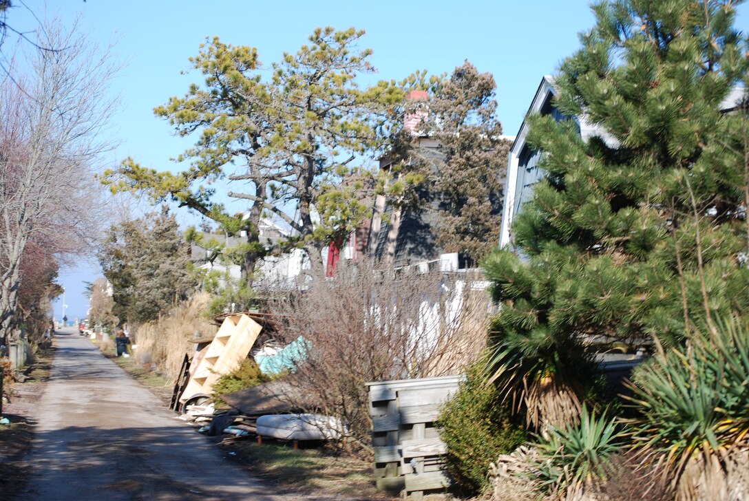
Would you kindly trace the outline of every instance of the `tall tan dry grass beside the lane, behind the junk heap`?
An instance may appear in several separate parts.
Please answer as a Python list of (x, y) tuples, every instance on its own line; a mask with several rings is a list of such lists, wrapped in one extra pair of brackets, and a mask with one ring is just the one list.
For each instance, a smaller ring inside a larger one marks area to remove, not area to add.
[(198, 294), (175, 308), (172, 315), (156, 322), (148, 322), (132, 333), (136, 347), (133, 356), (140, 364), (153, 363), (157, 371), (175, 380), (185, 353), (191, 353), (195, 344), (189, 342), (196, 331), (214, 333), (216, 327), (204, 318), (208, 304), (207, 294)]

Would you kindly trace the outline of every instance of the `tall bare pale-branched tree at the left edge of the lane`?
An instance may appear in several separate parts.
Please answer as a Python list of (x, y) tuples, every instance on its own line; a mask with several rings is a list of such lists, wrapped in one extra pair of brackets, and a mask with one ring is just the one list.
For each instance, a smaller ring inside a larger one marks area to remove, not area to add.
[(114, 68), (58, 24), (40, 31), (45, 46), (26, 55), (26, 70), (0, 86), (0, 335), (17, 327), (19, 264), (29, 241), (63, 258), (82, 251), (100, 214), (92, 168), (112, 112), (107, 82)]

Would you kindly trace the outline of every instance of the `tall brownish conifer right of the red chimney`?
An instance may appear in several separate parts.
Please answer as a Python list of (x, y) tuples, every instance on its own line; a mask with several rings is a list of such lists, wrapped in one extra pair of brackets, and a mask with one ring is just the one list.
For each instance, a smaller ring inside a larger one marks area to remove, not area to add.
[(440, 144), (434, 192), (440, 194), (437, 244), (473, 263), (499, 240), (509, 142), (495, 111), (494, 76), (464, 64), (430, 103), (431, 132)]

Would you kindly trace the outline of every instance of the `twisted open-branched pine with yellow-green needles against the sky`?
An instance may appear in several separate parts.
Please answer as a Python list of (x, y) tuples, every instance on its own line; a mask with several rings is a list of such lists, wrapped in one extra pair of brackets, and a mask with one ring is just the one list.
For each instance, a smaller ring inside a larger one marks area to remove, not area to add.
[[(228, 234), (245, 231), (240, 268), (246, 284), (258, 258), (269, 252), (306, 250), (315, 275), (321, 249), (344, 226), (352, 231), (369, 217), (356, 189), (342, 185), (357, 161), (379, 145), (377, 130), (386, 106), (403, 99), (392, 82), (361, 88), (374, 73), (370, 49), (358, 49), (363, 30), (317, 28), (294, 53), (264, 69), (258, 51), (214, 37), (190, 58), (205, 76), (184, 97), (172, 97), (155, 113), (181, 136), (197, 133), (194, 148), (178, 160), (189, 168), (173, 174), (140, 166), (132, 159), (106, 172), (113, 191), (145, 193), (172, 200), (213, 219)], [(232, 216), (208, 184), (228, 181), (225, 195), (246, 201), (246, 214)], [(297, 217), (289, 210), (297, 210)], [(324, 213), (313, 222), (313, 213)], [(267, 249), (258, 237), (262, 217), (282, 220), (295, 237)]]

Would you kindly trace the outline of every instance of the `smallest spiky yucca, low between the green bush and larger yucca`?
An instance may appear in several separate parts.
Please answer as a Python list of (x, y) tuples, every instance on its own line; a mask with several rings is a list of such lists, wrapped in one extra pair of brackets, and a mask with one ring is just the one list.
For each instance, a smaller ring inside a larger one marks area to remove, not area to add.
[(599, 485), (607, 477), (611, 458), (627, 443), (616, 418), (608, 419), (606, 413), (595, 416), (585, 405), (579, 423), (550, 426), (546, 435), (536, 445), (536, 472), (542, 485), (554, 493)]

